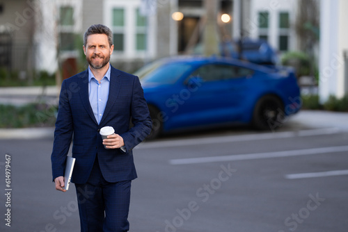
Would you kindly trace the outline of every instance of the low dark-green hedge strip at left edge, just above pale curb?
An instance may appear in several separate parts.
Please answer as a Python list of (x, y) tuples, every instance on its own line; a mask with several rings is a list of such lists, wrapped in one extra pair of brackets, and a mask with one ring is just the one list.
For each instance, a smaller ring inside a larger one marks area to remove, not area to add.
[(0, 105), (0, 128), (54, 126), (56, 106), (30, 103), (25, 106)]

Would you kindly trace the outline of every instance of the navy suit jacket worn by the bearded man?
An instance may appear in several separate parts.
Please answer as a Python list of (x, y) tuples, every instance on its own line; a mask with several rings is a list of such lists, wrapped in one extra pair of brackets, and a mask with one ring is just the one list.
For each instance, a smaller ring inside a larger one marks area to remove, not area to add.
[[(64, 176), (72, 141), (72, 157), (76, 158), (73, 183), (86, 183), (96, 155), (106, 181), (136, 179), (132, 149), (152, 128), (139, 78), (111, 67), (109, 99), (100, 124), (90, 106), (88, 87), (88, 69), (62, 83), (51, 156), (53, 179)], [(123, 138), (126, 152), (104, 148), (99, 133), (103, 126), (113, 126), (115, 133)]]

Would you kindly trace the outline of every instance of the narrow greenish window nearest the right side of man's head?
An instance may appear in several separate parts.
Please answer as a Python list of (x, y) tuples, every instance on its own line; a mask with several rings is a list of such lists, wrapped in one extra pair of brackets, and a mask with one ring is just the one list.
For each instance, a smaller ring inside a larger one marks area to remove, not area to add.
[(125, 50), (125, 9), (113, 9), (113, 46), (115, 51)]

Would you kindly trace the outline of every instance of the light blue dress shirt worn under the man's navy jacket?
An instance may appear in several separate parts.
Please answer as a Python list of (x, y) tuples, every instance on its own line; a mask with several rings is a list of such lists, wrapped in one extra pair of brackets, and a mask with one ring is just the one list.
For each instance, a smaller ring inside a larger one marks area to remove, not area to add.
[(88, 67), (89, 102), (90, 106), (92, 107), (94, 117), (97, 120), (98, 124), (100, 124), (100, 121), (102, 120), (106, 102), (109, 98), (110, 73), (111, 65), (109, 65), (108, 71), (102, 78), (102, 81), (100, 81), (99, 83), (95, 76), (93, 76), (93, 73), (90, 71), (90, 68)]

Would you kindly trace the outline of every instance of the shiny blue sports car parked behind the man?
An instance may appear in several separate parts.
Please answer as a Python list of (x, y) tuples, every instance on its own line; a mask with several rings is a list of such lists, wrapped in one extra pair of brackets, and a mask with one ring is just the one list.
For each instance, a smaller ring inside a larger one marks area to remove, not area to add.
[(157, 60), (135, 73), (152, 117), (149, 139), (179, 129), (231, 123), (274, 130), (301, 108), (292, 69), (232, 58)]

